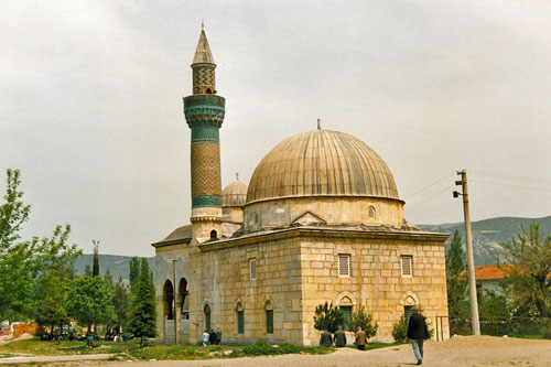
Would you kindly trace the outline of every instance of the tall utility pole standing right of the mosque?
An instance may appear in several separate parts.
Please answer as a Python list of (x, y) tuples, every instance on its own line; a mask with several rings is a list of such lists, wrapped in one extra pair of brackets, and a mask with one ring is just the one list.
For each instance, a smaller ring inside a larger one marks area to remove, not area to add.
[(478, 319), (478, 300), (476, 296), (475, 261), (473, 256), (473, 237), (471, 234), (471, 215), (468, 213), (468, 188), (467, 171), (457, 171), (461, 181), (455, 181), (457, 186), (462, 186), (463, 193), (453, 192), (453, 197), (463, 196), (463, 215), (465, 217), (465, 237), (467, 239), (467, 270), (468, 270), (468, 293), (471, 298), (471, 323), (473, 335), (480, 335), (480, 322)]

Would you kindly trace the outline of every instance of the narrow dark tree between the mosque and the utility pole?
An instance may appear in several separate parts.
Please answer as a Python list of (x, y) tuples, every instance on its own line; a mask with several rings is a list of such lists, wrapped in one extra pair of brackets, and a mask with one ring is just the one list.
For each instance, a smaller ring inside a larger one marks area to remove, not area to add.
[(447, 283), (447, 313), (450, 316), (465, 316), (469, 314), (467, 295), (467, 279), (462, 276), (465, 271), (465, 252), (460, 231), (456, 229), (452, 246), (446, 253), (446, 283)]

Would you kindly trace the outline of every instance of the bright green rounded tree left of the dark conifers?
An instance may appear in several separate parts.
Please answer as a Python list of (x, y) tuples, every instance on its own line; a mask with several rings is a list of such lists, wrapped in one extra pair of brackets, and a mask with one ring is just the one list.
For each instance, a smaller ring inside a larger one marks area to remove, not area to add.
[(66, 307), (79, 324), (104, 324), (114, 319), (112, 289), (101, 277), (76, 278), (67, 293)]

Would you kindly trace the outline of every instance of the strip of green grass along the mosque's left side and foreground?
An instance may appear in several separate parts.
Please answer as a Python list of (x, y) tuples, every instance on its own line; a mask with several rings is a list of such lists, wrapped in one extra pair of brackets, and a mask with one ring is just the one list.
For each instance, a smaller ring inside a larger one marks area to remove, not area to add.
[(152, 344), (140, 348), (139, 341), (126, 343), (95, 342), (93, 348), (86, 347), (86, 342), (61, 341), (44, 342), (39, 338), (11, 342), (0, 345), (0, 356), (15, 355), (75, 355), (75, 354), (112, 354), (111, 360), (163, 360), (163, 359), (212, 359), (237, 358), (245, 356), (281, 355), (281, 354), (328, 354), (334, 348), (303, 347), (292, 344), (279, 346), (269, 345), (266, 341), (258, 341), (249, 346), (192, 346), (192, 345), (164, 345)]

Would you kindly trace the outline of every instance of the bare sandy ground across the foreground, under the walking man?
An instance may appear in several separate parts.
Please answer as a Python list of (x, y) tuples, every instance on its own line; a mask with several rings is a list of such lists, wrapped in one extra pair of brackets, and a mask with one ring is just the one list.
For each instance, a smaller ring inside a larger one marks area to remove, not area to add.
[[(369, 352), (342, 348), (329, 355), (284, 355), (209, 360), (149, 360), (149, 361), (108, 361), (78, 360), (62, 361), (41, 359), (18, 360), (19, 363), (44, 363), (55, 366), (191, 366), (191, 367), (321, 367), (321, 366), (411, 366), (415, 363), (410, 345), (400, 345)], [(53, 357), (53, 358), (61, 358)], [(15, 360), (11, 359), (13, 364)], [(0, 358), (0, 364), (8, 360)], [(425, 343), (423, 366), (551, 366), (551, 341), (532, 341), (493, 336), (457, 336), (446, 342)]]

